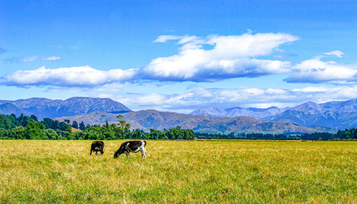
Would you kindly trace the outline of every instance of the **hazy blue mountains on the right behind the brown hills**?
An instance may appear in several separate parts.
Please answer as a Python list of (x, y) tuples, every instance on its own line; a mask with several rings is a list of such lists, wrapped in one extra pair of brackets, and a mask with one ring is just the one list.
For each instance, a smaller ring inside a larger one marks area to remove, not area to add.
[(296, 107), (279, 109), (203, 108), (193, 111), (193, 115), (209, 115), (212, 117), (249, 116), (261, 120), (291, 122), (300, 126), (326, 126), (336, 129), (349, 129), (357, 126), (357, 99), (347, 101), (331, 101), (315, 104), (311, 101)]

